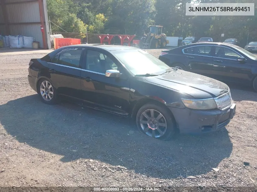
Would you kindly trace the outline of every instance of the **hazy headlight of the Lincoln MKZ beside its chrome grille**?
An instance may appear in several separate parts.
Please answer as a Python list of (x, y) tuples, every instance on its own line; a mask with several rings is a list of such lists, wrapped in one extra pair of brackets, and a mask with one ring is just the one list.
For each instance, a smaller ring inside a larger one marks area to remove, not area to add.
[(217, 109), (216, 102), (213, 98), (211, 99), (199, 99), (199, 100), (189, 100), (189, 99), (181, 99), (184, 105), (190, 109)]

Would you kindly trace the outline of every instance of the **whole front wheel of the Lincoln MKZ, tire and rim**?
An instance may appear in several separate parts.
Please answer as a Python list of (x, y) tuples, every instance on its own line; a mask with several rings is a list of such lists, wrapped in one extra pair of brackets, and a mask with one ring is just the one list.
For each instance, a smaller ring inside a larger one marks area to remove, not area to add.
[(136, 123), (141, 133), (156, 139), (166, 141), (175, 135), (174, 120), (168, 110), (152, 103), (138, 110)]

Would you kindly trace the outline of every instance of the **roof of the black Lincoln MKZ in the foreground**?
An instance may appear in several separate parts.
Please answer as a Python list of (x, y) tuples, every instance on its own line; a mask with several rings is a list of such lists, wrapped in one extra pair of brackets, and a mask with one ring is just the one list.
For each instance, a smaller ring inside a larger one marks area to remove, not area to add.
[(90, 48), (101, 48), (106, 49), (107, 51), (114, 51), (114, 50), (124, 50), (124, 49), (138, 49), (135, 47), (130, 46), (123, 46), (123, 45), (109, 45), (109, 44), (78, 44), (78, 45), (68, 45), (65, 48), (72, 48), (72, 47), (90, 47)]

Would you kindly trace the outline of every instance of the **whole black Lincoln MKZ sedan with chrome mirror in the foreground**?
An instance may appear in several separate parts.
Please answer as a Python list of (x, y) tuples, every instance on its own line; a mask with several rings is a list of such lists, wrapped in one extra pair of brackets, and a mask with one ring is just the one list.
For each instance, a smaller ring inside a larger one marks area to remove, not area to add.
[(63, 98), (130, 116), (142, 133), (161, 140), (170, 139), (177, 130), (219, 130), (235, 114), (226, 84), (170, 68), (151, 54), (127, 46), (62, 47), (31, 59), (28, 80), (43, 103)]

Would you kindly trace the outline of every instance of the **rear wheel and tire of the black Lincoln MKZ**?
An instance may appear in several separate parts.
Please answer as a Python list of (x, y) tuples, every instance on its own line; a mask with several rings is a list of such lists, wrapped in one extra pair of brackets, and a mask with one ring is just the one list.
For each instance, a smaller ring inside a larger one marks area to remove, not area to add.
[(40, 79), (37, 84), (37, 93), (43, 103), (49, 105), (57, 103), (57, 90), (50, 80)]

